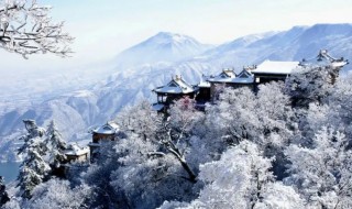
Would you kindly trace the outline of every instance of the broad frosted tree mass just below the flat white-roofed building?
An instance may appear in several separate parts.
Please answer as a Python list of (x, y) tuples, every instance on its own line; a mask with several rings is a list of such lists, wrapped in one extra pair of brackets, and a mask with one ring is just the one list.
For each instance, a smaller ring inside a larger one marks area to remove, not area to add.
[(284, 146), (295, 131), (295, 123), (289, 97), (283, 88), (278, 82), (262, 85), (256, 96), (248, 88), (228, 88), (216, 106), (208, 107), (208, 123), (229, 144), (250, 140), (262, 147)]

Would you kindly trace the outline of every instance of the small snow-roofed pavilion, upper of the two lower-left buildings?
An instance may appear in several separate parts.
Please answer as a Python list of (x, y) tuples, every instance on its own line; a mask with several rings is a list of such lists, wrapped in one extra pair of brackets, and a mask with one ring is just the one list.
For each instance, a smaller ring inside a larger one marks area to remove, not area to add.
[(112, 121), (91, 130), (92, 141), (88, 144), (90, 147), (90, 158), (94, 160), (99, 154), (101, 143), (114, 141), (119, 131), (119, 125)]

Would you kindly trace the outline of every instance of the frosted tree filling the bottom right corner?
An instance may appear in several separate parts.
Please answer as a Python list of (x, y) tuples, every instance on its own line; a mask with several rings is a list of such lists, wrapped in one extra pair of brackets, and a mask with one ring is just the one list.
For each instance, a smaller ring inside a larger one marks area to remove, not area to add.
[(292, 175), (286, 180), (296, 185), (309, 206), (351, 208), (352, 152), (348, 146), (342, 133), (322, 128), (314, 139), (314, 148), (287, 147)]

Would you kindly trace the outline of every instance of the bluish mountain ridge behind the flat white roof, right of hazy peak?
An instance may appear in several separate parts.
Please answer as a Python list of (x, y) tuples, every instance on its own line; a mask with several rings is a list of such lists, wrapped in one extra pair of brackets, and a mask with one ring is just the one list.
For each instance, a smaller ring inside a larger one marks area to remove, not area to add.
[[(265, 59), (301, 61), (315, 57), (319, 50), (327, 48), (334, 56), (352, 55), (352, 24), (316, 24), (295, 26), (288, 31), (256, 35), (260, 38), (243, 42), (253, 35), (208, 51), (201, 57), (205, 62), (241, 67), (258, 64)], [(244, 44), (243, 44), (244, 43)]]

